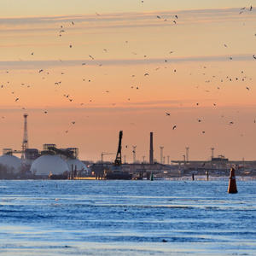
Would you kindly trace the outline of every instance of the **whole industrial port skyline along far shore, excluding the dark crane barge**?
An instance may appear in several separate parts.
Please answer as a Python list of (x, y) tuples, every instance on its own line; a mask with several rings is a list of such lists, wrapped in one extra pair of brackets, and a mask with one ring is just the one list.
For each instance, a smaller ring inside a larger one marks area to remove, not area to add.
[[(0, 178), (42, 178), (62, 175), (67, 178), (74, 177), (103, 177), (105, 170), (110, 170), (113, 166), (111, 162), (94, 163), (90, 166), (79, 160), (79, 148), (57, 148), (54, 143), (44, 144), (42, 150), (38, 148), (29, 148), (28, 146), (28, 132), (27, 132), (27, 117), (24, 114), (24, 133), (21, 150), (12, 148), (3, 148), (3, 155), (0, 156)], [(211, 160), (189, 160), (189, 147), (186, 147), (186, 154), (183, 155), (183, 160), (172, 160), (171, 165), (165, 165), (163, 156), (163, 148), (160, 147), (160, 163), (154, 160), (153, 147), (153, 132), (150, 132), (149, 141), (149, 162), (136, 161), (136, 146), (133, 146), (133, 163), (122, 163), (120, 154), (120, 140), (119, 140), (119, 165), (122, 165), (124, 172), (132, 174), (133, 178), (143, 179), (148, 178), (149, 173), (153, 173), (154, 177), (175, 177), (182, 175), (189, 175), (191, 173), (198, 173), (200, 175), (211, 173), (229, 175), (230, 168), (236, 166), (236, 169), (241, 174), (256, 174), (256, 161), (234, 161), (218, 155), (212, 157)], [(14, 154), (20, 154), (18, 158)], [(61, 177), (61, 176), (60, 176)], [(55, 177), (58, 178), (58, 177)]]

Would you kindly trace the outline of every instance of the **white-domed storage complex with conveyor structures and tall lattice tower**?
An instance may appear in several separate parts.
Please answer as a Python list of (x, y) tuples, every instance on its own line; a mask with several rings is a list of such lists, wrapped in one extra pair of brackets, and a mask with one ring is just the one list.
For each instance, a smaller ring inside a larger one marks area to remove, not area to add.
[[(88, 173), (87, 166), (79, 158), (79, 148), (56, 148), (55, 144), (44, 144), (43, 149), (28, 147), (27, 117), (24, 115), (24, 133), (21, 150), (3, 148), (0, 156), (0, 177), (48, 177), (63, 172)], [(14, 154), (21, 154), (18, 158)]]

